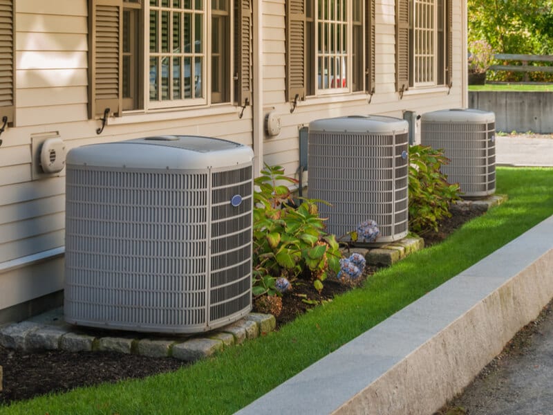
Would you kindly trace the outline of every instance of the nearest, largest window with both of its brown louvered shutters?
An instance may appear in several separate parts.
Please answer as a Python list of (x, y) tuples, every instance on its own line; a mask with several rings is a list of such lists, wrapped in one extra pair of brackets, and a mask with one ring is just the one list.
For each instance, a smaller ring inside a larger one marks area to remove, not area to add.
[[(125, 110), (251, 101), (250, 0), (92, 0), (89, 5), (91, 116), (105, 108), (121, 116)], [(240, 35), (231, 36), (233, 30)]]

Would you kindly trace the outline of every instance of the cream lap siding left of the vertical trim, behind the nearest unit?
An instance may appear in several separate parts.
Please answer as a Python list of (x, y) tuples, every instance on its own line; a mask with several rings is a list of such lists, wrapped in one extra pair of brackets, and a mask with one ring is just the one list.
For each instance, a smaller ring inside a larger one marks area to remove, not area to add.
[[(124, 114), (102, 135), (88, 120), (88, 4), (86, 0), (15, 3), (15, 126), (0, 147), (0, 323), (6, 309), (63, 288), (63, 261), (48, 260), (64, 246), (65, 180), (33, 180), (32, 142), (59, 136), (67, 151), (97, 142), (162, 134), (225, 138), (252, 145), (252, 109), (207, 109)], [(46, 255), (46, 259), (41, 256)]]

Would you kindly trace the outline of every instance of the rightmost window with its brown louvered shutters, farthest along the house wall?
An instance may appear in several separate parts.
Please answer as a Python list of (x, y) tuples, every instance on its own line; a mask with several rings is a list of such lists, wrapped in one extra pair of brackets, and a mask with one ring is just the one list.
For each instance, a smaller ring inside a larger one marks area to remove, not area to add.
[(396, 1), (396, 89), (451, 87), (451, 0)]

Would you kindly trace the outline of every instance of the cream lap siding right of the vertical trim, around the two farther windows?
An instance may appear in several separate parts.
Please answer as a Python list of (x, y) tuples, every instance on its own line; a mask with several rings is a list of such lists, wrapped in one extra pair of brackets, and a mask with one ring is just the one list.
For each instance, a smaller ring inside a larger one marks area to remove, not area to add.
[[(395, 92), (395, 1), (376, 0), (375, 95), (346, 95), (332, 98), (307, 98), (294, 113), (285, 102), (285, 16), (284, 1), (263, 1), (263, 105), (264, 113), (275, 111), (281, 117), (281, 133), (265, 135), (264, 161), (285, 167), (286, 174), (297, 177), (299, 167), (299, 128), (312, 120), (337, 116), (381, 114), (402, 118), (403, 111), (420, 113), (462, 106), (462, 21), (461, 0), (453, 0), (453, 89), (439, 93), (415, 93), (400, 100)], [(275, 13), (282, 15), (277, 16)]]

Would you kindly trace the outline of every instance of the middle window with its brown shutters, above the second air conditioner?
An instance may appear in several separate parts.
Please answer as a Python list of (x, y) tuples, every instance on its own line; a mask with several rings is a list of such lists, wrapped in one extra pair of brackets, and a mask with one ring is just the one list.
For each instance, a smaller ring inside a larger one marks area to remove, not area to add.
[(288, 0), (288, 100), (373, 91), (374, 0)]

